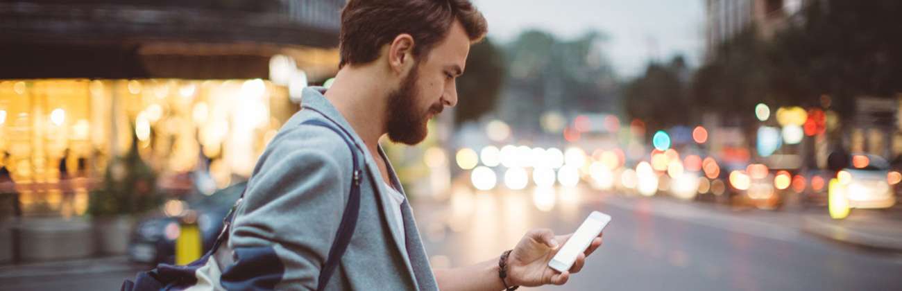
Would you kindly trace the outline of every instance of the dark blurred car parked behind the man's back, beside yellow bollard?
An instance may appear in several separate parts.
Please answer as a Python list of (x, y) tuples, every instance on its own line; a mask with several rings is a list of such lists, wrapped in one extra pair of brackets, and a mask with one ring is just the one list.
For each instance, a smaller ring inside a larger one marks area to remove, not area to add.
[(128, 256), (148, 264), (175, 262), (175, 243), (181, 233), (179, 214), (197, 214), (203, 251), (213, 247), (223, 227), (223, 218), (244, 192), (246, 182), (228, 186), (211, 195), (193, 194), (187, 201), (170, 200), (164, 210), (136, 224), (129, 239)]

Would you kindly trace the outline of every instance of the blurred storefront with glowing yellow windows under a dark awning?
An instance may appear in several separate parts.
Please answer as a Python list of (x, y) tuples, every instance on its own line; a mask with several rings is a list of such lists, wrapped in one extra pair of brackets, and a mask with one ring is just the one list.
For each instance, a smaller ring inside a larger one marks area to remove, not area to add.
[(85, 214), (133, 142), (172, 195), (248, 177), (300, 89), (335, 75), (342, 5), (0, 4), (0, 193), (23, 216)]

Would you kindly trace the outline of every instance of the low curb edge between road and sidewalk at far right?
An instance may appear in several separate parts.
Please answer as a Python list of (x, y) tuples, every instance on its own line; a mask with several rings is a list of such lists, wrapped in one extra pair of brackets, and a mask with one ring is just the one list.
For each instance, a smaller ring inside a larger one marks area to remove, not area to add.
[(802, 232), (865, 248), (902, 252), (902, 237), (861, 232), (838, 224), (824, 222), (823, 218), (805, 217)]

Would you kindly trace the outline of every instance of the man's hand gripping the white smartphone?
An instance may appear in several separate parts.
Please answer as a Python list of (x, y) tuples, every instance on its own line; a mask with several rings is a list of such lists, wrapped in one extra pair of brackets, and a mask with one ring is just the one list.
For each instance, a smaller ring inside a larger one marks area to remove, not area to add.
[(511, 286), (542, 286), (547, 284), (563, 285), (570, 274), (575, 274), (583, 268), (585, 257), (588, 257), (595, 249), (602, 245), (602, 234), (592, 240), (589, 248), (578, 256), (569, 270), (561, 273), (548, 267), (548, 261), (554, 258), (557, 250), (570, 239), (573, 233), (555, 236), (548, 229), (539, 229), (526, 232), (511, 251), (508, 257), (508, 285)]

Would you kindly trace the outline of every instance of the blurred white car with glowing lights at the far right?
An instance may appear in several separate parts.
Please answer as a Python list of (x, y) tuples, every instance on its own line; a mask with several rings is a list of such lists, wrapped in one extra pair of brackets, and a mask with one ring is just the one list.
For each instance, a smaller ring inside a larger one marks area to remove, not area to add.
[(888, 175), (886, 159), (854, 154), (850, 167), (843, 168), (836, 177), (850, 208), (889, 208), (896, 205), (896, 194)]

